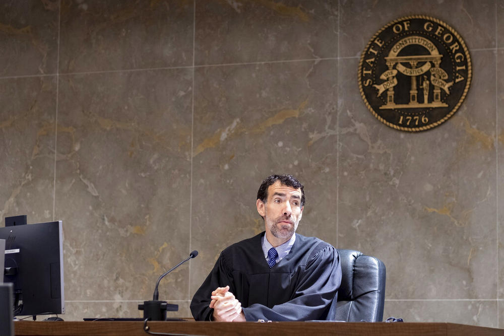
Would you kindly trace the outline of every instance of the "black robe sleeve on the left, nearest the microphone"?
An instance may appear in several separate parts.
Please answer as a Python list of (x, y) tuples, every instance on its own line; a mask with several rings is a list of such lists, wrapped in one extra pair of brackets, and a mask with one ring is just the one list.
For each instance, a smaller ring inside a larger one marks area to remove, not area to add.
[[(225, 284), (225, 285), (222, 285)], [(200, 286), (198, 291), (191, 301), (191, 312), (193, 317), (197, 321), (210, 321), (210, 316), (213, 313), (213, 309), (209, 307), (212, 299), (212, 291), (217, 287), (229, 285), (229, 290), (231, 293), (235, 293), (235, 286), (233, 277), (231, 276), (231, 270), (228, 269), (227, 262), (225, 260), (224, 253), (221, 252), (214, 268), (208, 275), (207, 279)]]

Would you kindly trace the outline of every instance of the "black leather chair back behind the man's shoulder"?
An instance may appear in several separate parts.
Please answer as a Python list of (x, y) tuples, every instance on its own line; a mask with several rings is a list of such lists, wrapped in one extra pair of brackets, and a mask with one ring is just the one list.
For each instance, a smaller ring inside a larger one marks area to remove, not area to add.
[(385, 304), (385, 264), (359, 251), (340, 250), (341, 286), (328, 319), (381, 322)]

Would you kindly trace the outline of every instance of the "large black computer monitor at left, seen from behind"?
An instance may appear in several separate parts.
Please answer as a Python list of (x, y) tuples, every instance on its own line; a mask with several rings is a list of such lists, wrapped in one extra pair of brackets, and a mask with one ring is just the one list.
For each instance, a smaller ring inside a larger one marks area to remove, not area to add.
[(14, 316), (65, 313), (61, 221), (0, 228)]

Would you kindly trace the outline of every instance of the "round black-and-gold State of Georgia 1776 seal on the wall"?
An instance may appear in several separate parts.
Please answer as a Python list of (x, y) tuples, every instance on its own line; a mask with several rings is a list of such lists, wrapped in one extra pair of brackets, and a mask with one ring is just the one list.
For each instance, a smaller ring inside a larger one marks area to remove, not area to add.
[(359, 62), (359, 90), (371, 113), (403, 131), (448, 120), (471, 84), (471, 57), (460, 35), (427, 16), (392, 21), (367, 43)]

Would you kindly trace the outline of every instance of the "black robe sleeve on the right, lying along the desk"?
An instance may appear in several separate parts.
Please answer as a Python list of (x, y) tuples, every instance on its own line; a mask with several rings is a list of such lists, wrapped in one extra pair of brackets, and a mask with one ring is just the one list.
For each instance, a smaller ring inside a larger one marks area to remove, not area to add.
[(247, 321), (303, 321), (325, 319), (341, 284), (338, 251), (325, 243), (316, 255), (310, 253), (304, 272), (299, 275), (292, 299), (268, 308), (253, 304), (242, 308)]

